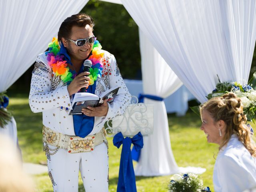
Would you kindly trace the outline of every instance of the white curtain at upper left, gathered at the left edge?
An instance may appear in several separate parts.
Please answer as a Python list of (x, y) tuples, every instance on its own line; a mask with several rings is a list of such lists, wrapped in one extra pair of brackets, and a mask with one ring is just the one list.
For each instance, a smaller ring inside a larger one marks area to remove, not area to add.
[[(88, 0), (0, 0), (0, 92), (7, 90), (47, 49), (62, 21)], [(14, 118), (0, 133), (17, 140)]]

